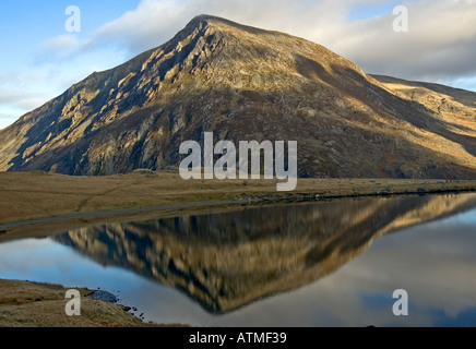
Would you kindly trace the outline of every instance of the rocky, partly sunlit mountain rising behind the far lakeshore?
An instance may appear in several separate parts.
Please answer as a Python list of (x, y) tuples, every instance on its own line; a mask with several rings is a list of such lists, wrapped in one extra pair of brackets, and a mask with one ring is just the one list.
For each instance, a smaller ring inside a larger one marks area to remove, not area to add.
[(366, 74), (302, 38), (209, 15), (0, 131), (0, 170), (178, 166), (181, 142), (298, 142), (299, 177), (476, 177), (476, 94)]

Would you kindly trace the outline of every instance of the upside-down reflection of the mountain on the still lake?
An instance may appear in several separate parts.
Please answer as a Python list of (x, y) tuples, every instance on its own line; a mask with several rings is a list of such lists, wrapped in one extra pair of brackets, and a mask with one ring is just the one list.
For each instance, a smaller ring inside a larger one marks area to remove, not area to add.
[(55, 239), (226, 313), (319, 280), (381, 234), (475, 206), (476, 194), (345, 200), (112, 224)]

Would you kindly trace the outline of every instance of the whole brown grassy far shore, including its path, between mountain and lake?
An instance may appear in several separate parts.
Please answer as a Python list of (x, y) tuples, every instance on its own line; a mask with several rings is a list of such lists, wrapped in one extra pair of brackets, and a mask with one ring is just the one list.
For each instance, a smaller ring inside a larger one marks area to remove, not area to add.
[(275, 180), (186, 181), (170, 171), (106, 177), (0, 172), (0, 242), (246, 205), (472, 191), (476, 180), (299, 179), (295, 191), (277, 192)]

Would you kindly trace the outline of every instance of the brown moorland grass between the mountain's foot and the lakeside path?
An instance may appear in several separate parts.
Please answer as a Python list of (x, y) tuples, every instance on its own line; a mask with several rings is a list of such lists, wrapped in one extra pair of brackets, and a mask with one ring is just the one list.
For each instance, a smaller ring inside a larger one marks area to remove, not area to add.
[(276, 180), (183, 180), (176, 172), (72, 177), (46, 172), (0, 172), (0, 225), (75, 213), (212, 201), (328, 198), (474, 191), (476, 180), (299, 179), (295, 191), (277, 192)]

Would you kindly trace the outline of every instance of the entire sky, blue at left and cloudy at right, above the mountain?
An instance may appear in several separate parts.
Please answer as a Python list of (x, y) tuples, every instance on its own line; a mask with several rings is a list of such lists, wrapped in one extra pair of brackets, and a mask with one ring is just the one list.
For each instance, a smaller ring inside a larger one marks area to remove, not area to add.
[(304, 37), (367, 73), (476, 92), (476, 0), (4, 0), (0, 129), (198, 14)]

